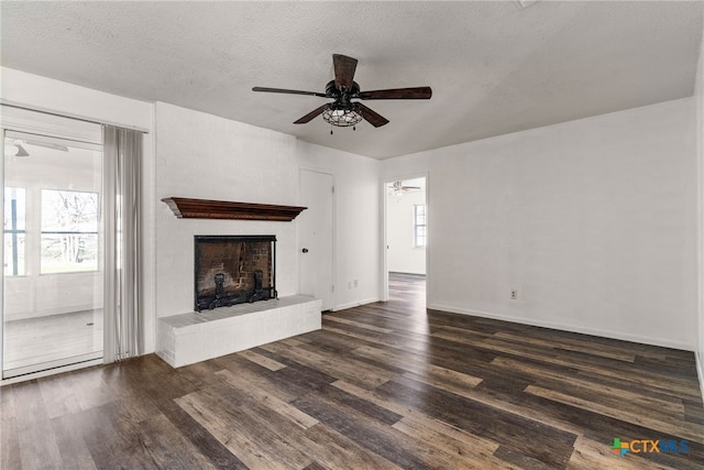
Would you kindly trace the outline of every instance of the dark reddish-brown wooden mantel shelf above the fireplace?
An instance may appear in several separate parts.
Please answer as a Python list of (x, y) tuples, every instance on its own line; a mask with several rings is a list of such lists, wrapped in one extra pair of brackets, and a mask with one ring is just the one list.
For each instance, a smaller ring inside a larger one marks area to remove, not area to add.
[(275, 206), (271, 204), (230, 203), (227, 200), (188, 199), (167, 197), (162, 199), (179, 219), (239, 219), (276, 220), (290, 222), (307, 207)]

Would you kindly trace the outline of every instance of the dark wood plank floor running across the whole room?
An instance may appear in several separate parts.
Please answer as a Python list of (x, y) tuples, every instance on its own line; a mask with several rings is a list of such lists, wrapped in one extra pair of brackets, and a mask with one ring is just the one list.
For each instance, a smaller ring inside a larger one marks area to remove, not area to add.
[(178, 370), (151, 354), (4, 386), (2, 468), (704, 469), (692, 352), (426, 313), (417, 276), (391, 288)]

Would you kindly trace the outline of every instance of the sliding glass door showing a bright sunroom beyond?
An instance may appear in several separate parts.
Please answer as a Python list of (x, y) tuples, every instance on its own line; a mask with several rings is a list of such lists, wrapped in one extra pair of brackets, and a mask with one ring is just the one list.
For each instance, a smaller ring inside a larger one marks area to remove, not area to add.
[(4, 131), (2, 378), (102, 357), (102, 150)]

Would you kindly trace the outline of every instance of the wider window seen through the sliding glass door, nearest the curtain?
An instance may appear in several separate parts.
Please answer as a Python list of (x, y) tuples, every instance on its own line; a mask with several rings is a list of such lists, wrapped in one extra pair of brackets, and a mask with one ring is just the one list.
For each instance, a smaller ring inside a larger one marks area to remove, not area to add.
[(42, 189), (42, 274), (98, 270), (98, 193)]

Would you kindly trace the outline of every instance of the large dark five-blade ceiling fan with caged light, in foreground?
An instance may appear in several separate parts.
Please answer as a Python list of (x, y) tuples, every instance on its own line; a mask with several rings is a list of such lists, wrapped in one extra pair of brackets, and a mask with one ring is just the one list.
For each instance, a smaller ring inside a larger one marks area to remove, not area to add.
[[(385, 90), (361, 91), (360, 85), (353, 80), (356, 69), (356, 58), (345, 55), (332, 54), (332, 66), (334, 69), (334, 80), (326, 85), (326, 92), (287, 90), (282, 88), (254, 87), (252, 91), (266, 91), (289, 95), (310, 95), (321, 98), (330, 98), (333, 101), (322, 105), (294, 124), (305, 124), (314, 118), (322, 114), (322, 119), (331, 125), (341, 128), (354, 127), (362, 119), (378, 128), (388, 123), (388, 119), (367, 108), (354, 99), (430, 99), (432, 90), (430, 87), (394, 88)], [(332, 131), (330, 131), (332, 133)]]

